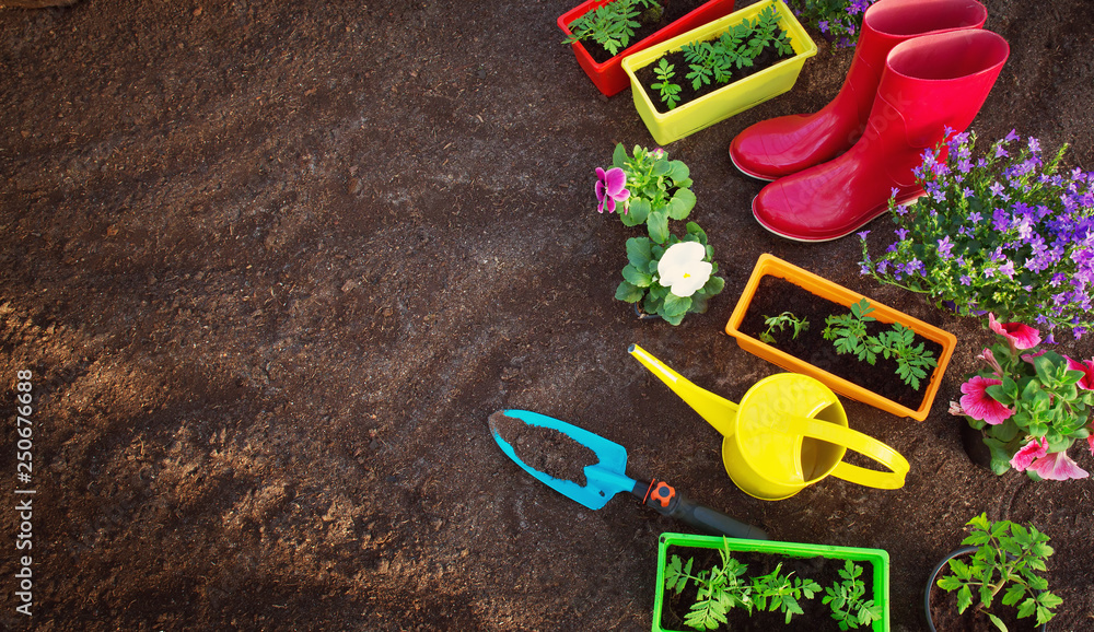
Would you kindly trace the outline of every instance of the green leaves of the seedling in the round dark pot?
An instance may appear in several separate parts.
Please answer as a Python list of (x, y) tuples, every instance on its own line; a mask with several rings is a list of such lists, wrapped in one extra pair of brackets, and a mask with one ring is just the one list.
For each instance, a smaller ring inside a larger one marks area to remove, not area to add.
[(1004, 606), (1017, 608), (1019, 619), (1035, 616), (1038, 627), (1047, 623), (1055, 616), (1052, 609), (1063, 602), (1048, 590), (1048, 581), (1037, 574), (1045, 572), (1045, 560), (1052, 554), (1048, 536), (1033, 525), (1026, 528), (1010, 520), (989, 520), (987, 514), (967, 524), (971, 530), (962, 543), (978, 549), (970, 563), (950, 560), (950, 574), (939, 578), (938, 586), (951, 593), (957, 590), (959, 612), (976, 604), (1003, 632), (1006, 627), (989, 611), (1000, 592)]

